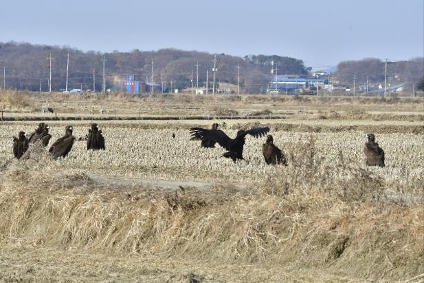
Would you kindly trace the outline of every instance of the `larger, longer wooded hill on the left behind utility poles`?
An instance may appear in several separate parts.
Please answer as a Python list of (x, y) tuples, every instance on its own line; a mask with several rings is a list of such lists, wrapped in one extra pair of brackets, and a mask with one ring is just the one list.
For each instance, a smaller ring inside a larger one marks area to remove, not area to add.
[[(137, 81), (151, 82), (152, 61), (155, 61), (155, 83), (164, 82), (164, 87), (175, 81), (176, 88), (194, 87), (197, 83), (197, 62), (199, 63), (199, 87), (203, 87), (208, 70), (209, 87), (212, 87), (212, 67), (214, 54), (197, 51), (162, 49), (157, 51), (131, 52), (82, 52), (74, 48), (32, 45), (30, 43), (0, 43), (0, 66), (5, 67), (6, 87), (23, 90), (45, 91), (48, 88), (49, 60), (52, 54), (52, 90), (60, 90), (66, 85), (67, 54), (69, 54), (68, 88), (93, 89), (93, 75), (96, 90), (101, 90), (103, 56), (107, 88), (115, 87), (134, 74)], [(240, 85), (245, 93), (259, 93), (267, 87), (270, 79), (271, 61), (280, 70), (291, 74), (308, 74), (309, 69), (302, 60), (284, 56), (230, 56), (216, 54), (216, 83), (237, 83), (237, 64), (240, 64)], [(2, 74), (1, 74), (2, 76)]]

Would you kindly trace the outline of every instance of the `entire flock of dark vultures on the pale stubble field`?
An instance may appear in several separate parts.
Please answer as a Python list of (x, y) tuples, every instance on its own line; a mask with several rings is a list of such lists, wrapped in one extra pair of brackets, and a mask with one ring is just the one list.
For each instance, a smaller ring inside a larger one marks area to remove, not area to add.
[[(65, 157), (71, 151), (72, 145), (74, 145), (74, 141), (76, 140), (72, 132), (72, 126), (65, 127), (65, 136), (58, 138), (49, 148), (49, 154), (51, 154), (52, 158)], [(254, 127), (247, 131), (241, 129), (237, 132), (235, 138), (230, 138), (219, 129), (219, 124), (214, 123), (212, 129), (192, 127), (190, 129), (190, 139), (201, 140), (201, 147), (205, 148), (215, 147), (216, 143), (218, 143), (227, 150), (221, 157), (231, 158), (236, 163), (236, 160), (243, 160), (243, 147), (247, 135), (260, 138), (268, 132), (269, 127)], [(49, 134), (49, 126), (45, 123), (40, 123), (38, 128), (30, 134), (29, 138), (27, 138), (25, 132), (19, 132), (18, 138), (13, 137), (14, 157), (21, 158), (32, 143), (41, 143), (43, 147), (47, 147), (51, 138), (52, 135)], [(172, 138), (175, 138), (175, 134), (172, 134)], [(384, 151), (379, 147), (378, 143), (375, 143), (374, 134), (367, 134), (366, 138), (368, 139), (364, 147), (364, 154), (367, 158), (366, 165), (384, 167)], [(88, 134), (78, 138), (78, 140), (87, 142), (87, 150), (105, 149), (102, 130), (96, 123), (91, 124)], [(274, 145), (274, 138), (271, 135), (267, 135), (262, 151), (265, 163), (287, 166), (287, 159), (284, 157), (282, 151)]]

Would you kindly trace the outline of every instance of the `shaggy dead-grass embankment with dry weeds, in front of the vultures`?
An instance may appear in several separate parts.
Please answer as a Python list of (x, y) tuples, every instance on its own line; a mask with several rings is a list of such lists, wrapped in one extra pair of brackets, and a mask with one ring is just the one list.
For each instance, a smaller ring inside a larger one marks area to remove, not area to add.
[(383, 202), (383, 180), (342, 157), (339, 171), (322, 171), (313, 139), (296, 149), (293, 169), (281, 171), (287, 176), (245, 191), (107, 187), (58, 172), (34, 151), (0, 176), (0, 242), (262, 263), (361, 280), (424, 273), (422, 204)]

